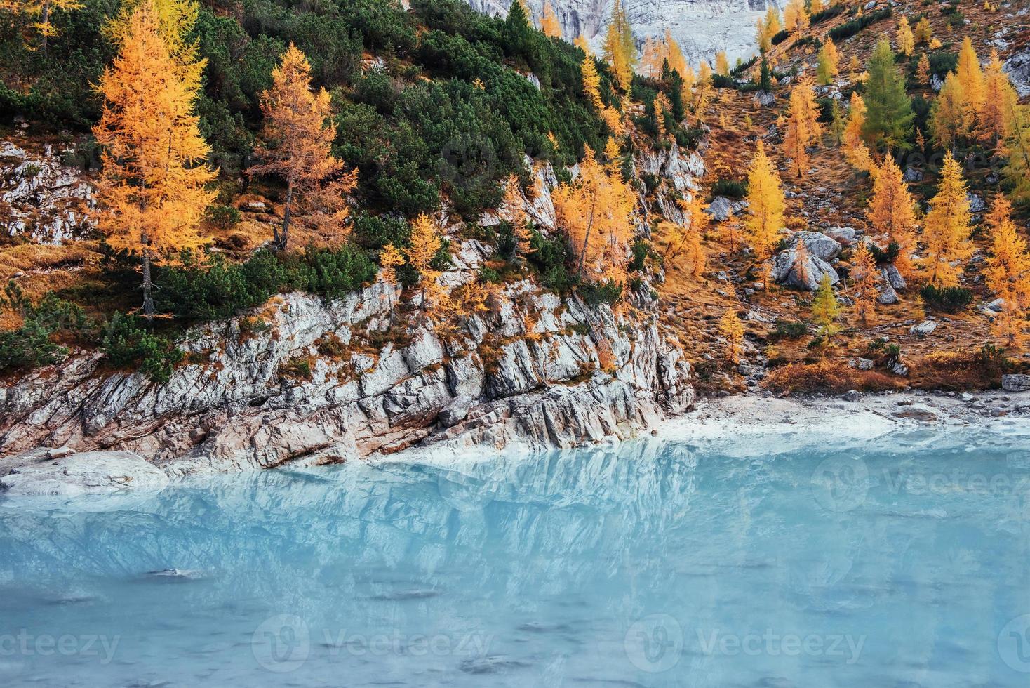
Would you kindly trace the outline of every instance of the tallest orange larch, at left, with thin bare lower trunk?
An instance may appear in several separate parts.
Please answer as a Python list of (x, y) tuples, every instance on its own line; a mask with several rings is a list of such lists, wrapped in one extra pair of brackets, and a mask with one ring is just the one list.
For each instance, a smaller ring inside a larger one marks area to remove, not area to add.
[(98, 227), (111, 246), (139, 254), (147, 318), (151, 264), (208, 242), (200, 222), (215, 198), (206, 188), (215, 176), (204, 162), (210, 148), (194, 113), (199, 94), (181, 78), (158, 20), (149, 0), (133, 11), (100, 77), (103, 111), (93, 128), (103, 148)]

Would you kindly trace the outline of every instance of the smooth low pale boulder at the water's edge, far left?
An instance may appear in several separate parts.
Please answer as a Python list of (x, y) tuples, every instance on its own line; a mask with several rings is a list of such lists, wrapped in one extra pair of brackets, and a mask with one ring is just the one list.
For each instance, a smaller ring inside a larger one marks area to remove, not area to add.
[(168, 476), (127, 451), (87, 451), (52, 458), (37, 449), (0, 461), (0, 494), (63, 495), (159, 490)]

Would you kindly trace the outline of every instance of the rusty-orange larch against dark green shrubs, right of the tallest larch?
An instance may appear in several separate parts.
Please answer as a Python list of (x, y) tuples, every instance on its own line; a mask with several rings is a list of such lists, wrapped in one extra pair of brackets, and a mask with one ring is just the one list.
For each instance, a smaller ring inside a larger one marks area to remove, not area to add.
[(261, 161), (248, 170), (251, 175), (272, 175), (286, 182), (282, 225), (273, 227), (276, 247), (289, 243), (295, 201), (310, 212), (304, 220), (330, 239), (345, 236), (348, 209), (344, 197), (353, 191), (357, 172), (343, 173), (343, 163), (332, 152), (336, 125), (324, 89), (311, 89), (311, 65), (293, 43), (272, 70), (272, 88), (262, 93), (265, 115), (255, 156)]

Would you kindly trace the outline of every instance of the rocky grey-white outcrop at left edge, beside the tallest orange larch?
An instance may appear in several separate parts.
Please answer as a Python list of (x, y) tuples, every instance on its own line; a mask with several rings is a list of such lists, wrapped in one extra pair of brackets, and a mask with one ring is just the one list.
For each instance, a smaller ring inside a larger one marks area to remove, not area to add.
[(93, 187), (53, 146), (29, 151), (0, 141), (0, 232), (61, 243), (89, 232)]

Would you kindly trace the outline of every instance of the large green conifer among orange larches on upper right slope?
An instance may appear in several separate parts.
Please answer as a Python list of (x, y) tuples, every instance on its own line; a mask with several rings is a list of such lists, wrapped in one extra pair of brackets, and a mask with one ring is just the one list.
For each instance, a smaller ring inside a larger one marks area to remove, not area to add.
[(877, 43), (866, 69), (865, 124), (862, 138), (881, 150), (904, 151), (912, 147), (912, 101), (904, 92), (904, 76), (894, 64), (894, 51), (885, 37)]

